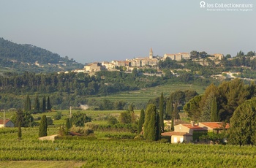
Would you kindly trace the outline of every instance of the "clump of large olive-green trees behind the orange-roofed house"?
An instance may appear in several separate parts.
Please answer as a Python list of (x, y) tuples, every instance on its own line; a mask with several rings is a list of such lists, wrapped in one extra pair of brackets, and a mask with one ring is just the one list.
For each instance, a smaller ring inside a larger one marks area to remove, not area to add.
[(240, 104), (255, 96), (255, 88), (254, 83), (246, 85), (240, 79), (225, 81), (218, 87), (211, 84), (203, 95), (191, 99), (184, 111), (195, 121), (200, 118), (200, 121), (228, 122)]

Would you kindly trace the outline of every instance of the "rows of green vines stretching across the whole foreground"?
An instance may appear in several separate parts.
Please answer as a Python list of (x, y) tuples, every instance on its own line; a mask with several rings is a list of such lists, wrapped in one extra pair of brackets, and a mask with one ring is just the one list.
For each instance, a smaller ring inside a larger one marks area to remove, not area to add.
[[(6, 167), (10, 161), (26, 161), (21, 162), (23, 164), (45, 161), (40, 162), (45, 163), (42, 167), (50, 167), (48, 164), (51, 161), (55, 165), (58, 161), (73, 161), (74, 167), (256, 167), (256, 149), (253, 146), (173, 145), (142, 140), (103, 139), (97, 137), (97, 132), (93, 137), (59, 138), (54, 142), (42, 142), (37, 140), (38, 128), (22, 129), (22, 140), (18, 140), (17, 132), (17, 128), (0, 129), (1, 167)], [(56, 133), (58, 128), (48, 129), (48, 134)]]

